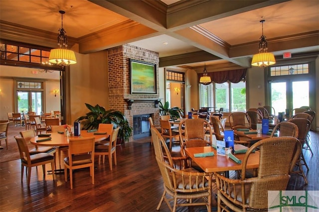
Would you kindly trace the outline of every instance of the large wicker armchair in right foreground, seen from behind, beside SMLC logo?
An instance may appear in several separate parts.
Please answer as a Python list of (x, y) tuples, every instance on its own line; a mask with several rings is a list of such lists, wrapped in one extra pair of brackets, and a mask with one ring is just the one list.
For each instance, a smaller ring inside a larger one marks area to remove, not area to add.
[[(246, 178), (247, 160), (256, 148), (260, 149), (257, 177)], [(267, 210), (267, 192), (286, 190), (289, 173), (298, 160), (301, 148), (300, 141), (294, 137), (266, 138), (252, 145), (246, 152), (240, 179), (229, 179), (214, 173), (218, 211)]]

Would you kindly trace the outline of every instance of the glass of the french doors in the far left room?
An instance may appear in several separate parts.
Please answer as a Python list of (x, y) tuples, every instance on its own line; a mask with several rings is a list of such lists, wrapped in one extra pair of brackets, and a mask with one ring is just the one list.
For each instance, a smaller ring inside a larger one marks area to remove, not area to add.
[(40, 114), (43, 110), (43, 92), (17, 91), (17, 111), (33, 111)]

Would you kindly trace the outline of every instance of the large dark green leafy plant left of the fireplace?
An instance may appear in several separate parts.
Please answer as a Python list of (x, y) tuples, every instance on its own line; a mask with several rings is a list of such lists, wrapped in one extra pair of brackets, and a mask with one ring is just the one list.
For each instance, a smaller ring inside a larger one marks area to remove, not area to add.
[(120, 126), (118, 139), (128, 142), (132, 136), (133, 128), (129, 125), (129, 121), (126, 119), (121, 111), (110, 109), (106, 110), (104, 107), (96, 105), (91, 106), (85, 103), (90, 112), (86, 115), (78, 117), (75, 121), (81, 121), (83, 124), (82, 129), (97, 129), (100, 123), (112, 123), (114, 128)]

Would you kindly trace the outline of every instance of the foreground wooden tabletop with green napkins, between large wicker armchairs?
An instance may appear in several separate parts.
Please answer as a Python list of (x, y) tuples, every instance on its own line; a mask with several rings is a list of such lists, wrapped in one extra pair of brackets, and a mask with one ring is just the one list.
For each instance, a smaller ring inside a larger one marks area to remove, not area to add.
[[(247, 148), (241, 144), (235, 144), (235, 150)], [(196, 153), (204, 153), (204, 152), (214, 152), (214, 156), (208, 157), (194, 157)], [(228, 158), (225, 155), (218, 155), (216, 149), (211, 146), (205, 147), (191, 147), (185, 148), (185, 153), (188, 157), (192, 159), (204, 172), (212, 173), (212, 172), (225, 172), (230, 170), (240, 170), (242, 169), (242, 165), (234, 162), (232, 159)], [(235, 154), (235, 156), (243, 160), (245, 154)], [(247, 168), (254, 169), (259, 166), (259, 152), (251, 153), (248, 162)]]

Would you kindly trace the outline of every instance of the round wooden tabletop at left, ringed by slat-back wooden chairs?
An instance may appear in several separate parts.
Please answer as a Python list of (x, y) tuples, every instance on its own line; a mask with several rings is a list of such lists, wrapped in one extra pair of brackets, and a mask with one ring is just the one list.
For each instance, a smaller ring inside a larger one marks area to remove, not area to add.
[[(96, 131), (99, 132), (99, 131)], [(36, 142), (40, 139), (45, 139), (47, 137), (38, 137), (35, 136), (34, 138), (31, 138), (30, 143), (38, 146), (68, 146), (69, 145), (69, 139), (70, 138), (81, 138), (81, 137), (95, 137), (95, 142), (105, 140), (110, 135), (109, 134), (99, 134), (95, 135), (94, 132), (88, 132), (87, 130), (81, 130), (80, 136), (65, 136), (65, 134), (60, 134), (58, 132), (50, 132), (51, 134), (51, 140), (48, 141), (42, 141), (42, 142)]]

